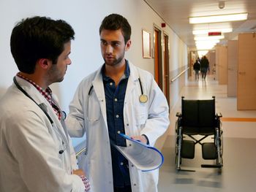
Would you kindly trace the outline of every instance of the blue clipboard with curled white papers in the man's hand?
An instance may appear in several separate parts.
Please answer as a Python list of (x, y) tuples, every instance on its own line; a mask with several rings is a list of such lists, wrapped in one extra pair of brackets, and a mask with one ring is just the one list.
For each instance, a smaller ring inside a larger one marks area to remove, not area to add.
[(115, 145), (116, 149), (127, 158), (137, 169), (143, 172), (148, 172), (154, 169), (158, 169), (164, 162), (164, 156), (155, 147), (143, 144), (137, 140), (131, 139), (131, 137), (120, 134), (121, 137), (128, 139), (132, 142), (129, 147), (121, 147)]

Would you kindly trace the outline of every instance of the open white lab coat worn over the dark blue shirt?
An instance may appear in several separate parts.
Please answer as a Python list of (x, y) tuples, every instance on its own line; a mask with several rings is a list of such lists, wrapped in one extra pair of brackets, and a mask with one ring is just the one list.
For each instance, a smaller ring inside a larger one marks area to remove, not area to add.
[[(130, 76), (124, 99), (124, 129), (129, 136), (146, 134), (150, 145), (166, 131), (169, 125), (168, 105), (154, 77), (129, 62)], [(80, 82), (74, 99), (69, 105), (66, 120), (71, 137), (86, 133), (86, 154), (82, 168), (89, 177), (91, 192), (113, 191), (113, 174), (110, 140), (106, 115), (106, 102), (101, 69)], [(140, 83), (146, 103), (140, 103)], [(93, 87), (92, 87), (93, 85)], [(91, 90), (91, 91), (90, 91)], [(89, 95), (90, 92), (90, 95)], [(127, 146), (129, 141), (127, 141)], [(156, 192), (159, 170), (141, 172), (129, 162), (133, 192)]]

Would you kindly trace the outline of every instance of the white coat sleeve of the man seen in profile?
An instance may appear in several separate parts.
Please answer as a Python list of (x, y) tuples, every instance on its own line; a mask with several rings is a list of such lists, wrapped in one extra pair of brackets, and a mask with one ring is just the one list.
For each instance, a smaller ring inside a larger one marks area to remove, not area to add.
[(26, 111), (7, 120), (8, 146), (27, 188), (34, 192), (84, 191), (80, 177), (62, 168), (59, 146), (49, 134), (47, 120), (38, 114), (42, 112)]

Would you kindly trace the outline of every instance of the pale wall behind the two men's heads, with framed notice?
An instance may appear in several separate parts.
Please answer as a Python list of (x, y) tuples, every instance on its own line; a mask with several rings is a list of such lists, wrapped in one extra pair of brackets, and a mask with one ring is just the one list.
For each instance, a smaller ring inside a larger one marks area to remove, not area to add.
[[(110, 13), (123, 15), (132, 26), (132, 47), (127, 58), (136, 66), (154, 74), (154, 58), (142, 57), (142, 28), (151, 32), (153, 26), (161, 26), (159, 18), (143, 0), (1, 0), (0, 1), (0, 96), (12, 83), (18, 72), (10, 53), (10, 34), (15, 23), (34, 15), (66, 20), (75, 30), (72, 42), (72, 65), (68, 67), (64, 81), (51, 85), (59, 97), (63, 110), (68, 111), (69, 102), (80, 80), (103, 64), (99, 48), (99, 26)], [(178, 38), (169, 26), (165, 33), (170, 37), (170, 71), (187, 65), (187, 45)], [(178, 96), (178, 90), (171, 90)]]

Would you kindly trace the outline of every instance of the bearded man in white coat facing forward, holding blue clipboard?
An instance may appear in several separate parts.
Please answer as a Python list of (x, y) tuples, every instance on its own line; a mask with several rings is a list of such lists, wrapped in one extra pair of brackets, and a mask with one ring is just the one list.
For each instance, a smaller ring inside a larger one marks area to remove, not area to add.
[(113, 144), (132, 145), (122, 133), (153, 146), (169, 125), (167, 101), (154, 77), (124, 58), (131, 46), (126, 18), (108, 15), (99, 35), (105, 64), (80, 82), (69, 105), (69, 134), (86, 134), (82, 166), (90, 191), (156, 192), (159, 170), (141, 172)]

